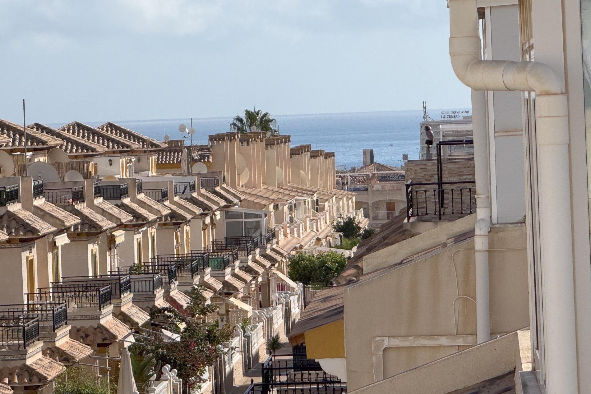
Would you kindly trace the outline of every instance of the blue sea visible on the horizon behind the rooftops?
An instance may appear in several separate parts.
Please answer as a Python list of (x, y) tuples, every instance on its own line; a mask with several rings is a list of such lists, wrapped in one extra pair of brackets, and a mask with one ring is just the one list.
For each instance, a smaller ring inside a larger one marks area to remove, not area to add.
[[(452, 110), (469, 109), (437, 109), (429, 112), (433, 119), (439, 119), (440, 113)], [(311, 144), (312, 149), (335, 152), (335, 162), (341, 170), (361, 166), (365, 148), (374, 149), (374, 161), (394, 167), (402, 164), (402, 154), (407, 154), (409, 159), (419, 157), (419, 129), (423, 110), (277, 115), (275, 119), (280, 133), (291, 135), (291, 146)], [(192, 121), (190, 118), (110, 121), (159, 141), (163, 141), (165, 132), (171, 139), (181, 138), (178, 126), (184, 124), (190, 127), (192, 122), (196, 130), (193, 144), (207, 144), (208, 135), (229, 131), (232, 116), (193, 118)], [(99, 126), (105, 122), (87, 124)], [(190, 144), (190, 138), (186, 138), (186, 144)]]

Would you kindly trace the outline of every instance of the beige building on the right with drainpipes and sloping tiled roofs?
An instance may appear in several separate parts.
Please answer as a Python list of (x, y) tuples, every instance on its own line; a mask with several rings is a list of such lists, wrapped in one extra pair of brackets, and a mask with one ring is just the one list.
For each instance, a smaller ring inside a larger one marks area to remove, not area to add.
[(447, 4), (475, 177), (407, 172), (405, 211), (290, 341), (349, 393), (588, 393), (591, 4)]

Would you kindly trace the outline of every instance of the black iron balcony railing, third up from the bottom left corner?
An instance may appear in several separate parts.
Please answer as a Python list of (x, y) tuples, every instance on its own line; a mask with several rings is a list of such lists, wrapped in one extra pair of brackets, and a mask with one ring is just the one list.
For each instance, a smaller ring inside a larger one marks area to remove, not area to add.
[(111, 304), (111, 286), (93, 284), (54, 284), (27, 293), (27, 302), (65, 302), (68, 308), (98, 308)]

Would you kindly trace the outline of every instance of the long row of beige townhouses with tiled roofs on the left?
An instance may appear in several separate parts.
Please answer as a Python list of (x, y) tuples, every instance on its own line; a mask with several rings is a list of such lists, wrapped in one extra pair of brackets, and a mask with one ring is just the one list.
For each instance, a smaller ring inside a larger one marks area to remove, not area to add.
[(50, 390), (76, 364), (109, 379), (140, 327), (158, 330), (150, 312), (186, 307), (197, 285), (219, 305), (206, 320), (236, 325), (239, 349), (202, 392), (254, 367), (265, 338), (300, 314), (288, 256), (332, 246), (337, 215), (362, 219), (355, 194), (335, 187), (334, 154), (289, 139), (184, 146), (110, 122), (0, 121), (0, 392)]

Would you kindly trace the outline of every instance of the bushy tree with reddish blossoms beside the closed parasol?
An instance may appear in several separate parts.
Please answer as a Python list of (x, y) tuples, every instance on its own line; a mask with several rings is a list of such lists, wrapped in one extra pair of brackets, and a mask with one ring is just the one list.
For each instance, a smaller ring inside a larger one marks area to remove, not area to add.
[[(206, 315), (217, 310), (217, 305), (203, 305), (205, 298), (199, 288), (191, 289), (189, 297), (191, 302), (186, 308), (164, 307), (152, 312), (152, 319), (166, 321), (171, 331), (180, 334), (180, 340), (167, 341), (147, 331), (142, 334), (150, 339), (136, 338), (142, 344), (132, 344), (129, 349), (135, 356), (151, 357), (154, 371), (160, 371), (165, 364), (175, 368), (178, 377), (183, 379), (183, 386), (191, 392), (203, 383), (201, 376), (206, 367), (225, 354), (222, 348), (232, 338), (234, 327), (229, 324), (219, 327), (217, 322), (203, 323)], [(143, 369), (149, 368), (143, 366)]]

